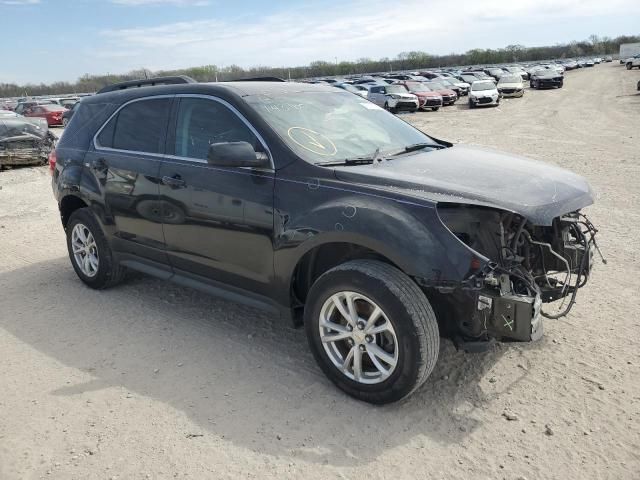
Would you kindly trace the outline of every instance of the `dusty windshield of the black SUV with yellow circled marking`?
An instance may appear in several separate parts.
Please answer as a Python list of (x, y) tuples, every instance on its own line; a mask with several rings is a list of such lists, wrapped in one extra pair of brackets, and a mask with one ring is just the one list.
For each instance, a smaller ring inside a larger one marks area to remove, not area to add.
[(370, 157), (377, 149), (385, 154), (419, 143), (439, 146), (395, 115), (346, 92), (250, 95), (245, 100), (310, 163)]

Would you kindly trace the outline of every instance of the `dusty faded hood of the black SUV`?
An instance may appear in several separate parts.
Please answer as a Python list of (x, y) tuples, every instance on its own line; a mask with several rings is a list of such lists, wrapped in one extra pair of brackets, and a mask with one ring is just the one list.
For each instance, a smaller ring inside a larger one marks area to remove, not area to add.
[(483, 147), (454, 146), (378, 165), (335, 167), (338, 179), (430, 202), (483, 205), (536, 225), (593, 203), (586, 180), (568, 170)]

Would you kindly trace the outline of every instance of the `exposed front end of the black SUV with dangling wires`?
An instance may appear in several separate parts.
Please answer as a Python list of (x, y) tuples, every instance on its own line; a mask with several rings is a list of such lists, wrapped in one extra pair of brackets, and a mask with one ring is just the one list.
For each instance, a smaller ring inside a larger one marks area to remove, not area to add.
[[(550, 226), (479, 206), (441, 204), (438, 214), (477, 253), (461, 287), (434, 292), (436, 309), (453, 327), (450, 333), (465, 345), (540, 338), (542, 317), (569, 313), (589, 279), (594, 253), (600, 254), (597, 230), (579, 211), (553, 219)], [(543, 307), (551, 302), (559, 303)]]

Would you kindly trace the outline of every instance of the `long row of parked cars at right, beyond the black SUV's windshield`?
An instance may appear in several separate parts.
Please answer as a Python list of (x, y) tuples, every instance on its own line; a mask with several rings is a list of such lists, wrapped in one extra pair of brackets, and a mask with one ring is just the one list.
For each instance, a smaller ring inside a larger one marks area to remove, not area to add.
[(501, 98), (522, 97), (527, 81), (531, 88), (562, 88), (565, 70), (579, 68), (578, 65), (578, 61), (571, 60), (528, 66), (379, 73), (309, 82), (329, 83), (391, 112), (436, 111), (455, 104), (463, 96), (467, 97), (469, 108), (496, 106)]

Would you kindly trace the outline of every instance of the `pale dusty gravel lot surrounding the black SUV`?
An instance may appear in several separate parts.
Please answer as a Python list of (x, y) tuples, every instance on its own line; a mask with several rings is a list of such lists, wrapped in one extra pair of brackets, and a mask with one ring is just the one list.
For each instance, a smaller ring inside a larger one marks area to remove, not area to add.
[(403, 117), (586, 176), (609, 264), (539, 343), (445, 342), (383, 408), (334, 388), (280, 320), (144, 276), (85, 288), (47, 168), (0, 173), (0, 478), (640, 478), (639, 79), (605, 64)]

